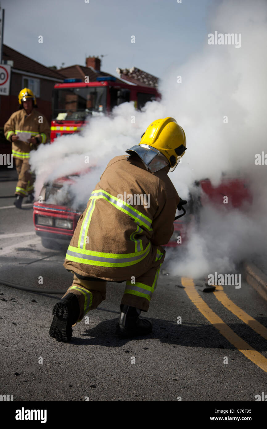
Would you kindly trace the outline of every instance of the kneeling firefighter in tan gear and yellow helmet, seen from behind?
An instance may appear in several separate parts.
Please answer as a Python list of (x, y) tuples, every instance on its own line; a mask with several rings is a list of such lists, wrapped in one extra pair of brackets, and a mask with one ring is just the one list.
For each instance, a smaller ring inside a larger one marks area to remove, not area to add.
[(152, 323), (139, 315), (156, 289), (165, 257), (161, 245), (174, 232), (177, 205), (185, 203), (167, 175), (185, 150), (186, 136), (175, 119), (158, 119), (129, 155), (108, 163), (66, 253), (63, 265), (74, 280), (54, 306), (51, 337), (70, 341), (72, 326), (105, 299), (107, 281), (126, 281), (116, 333), (151, 332)]

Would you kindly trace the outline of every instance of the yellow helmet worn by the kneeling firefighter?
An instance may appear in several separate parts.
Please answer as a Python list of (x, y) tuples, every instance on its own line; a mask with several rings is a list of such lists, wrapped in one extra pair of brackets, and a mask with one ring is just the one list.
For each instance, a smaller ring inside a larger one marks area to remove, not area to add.
[(139, 145), (148, 145), (163, 154), (173, 171), (186, 151), (186, 135), (174, 118), (156, 119), (142, 135)]

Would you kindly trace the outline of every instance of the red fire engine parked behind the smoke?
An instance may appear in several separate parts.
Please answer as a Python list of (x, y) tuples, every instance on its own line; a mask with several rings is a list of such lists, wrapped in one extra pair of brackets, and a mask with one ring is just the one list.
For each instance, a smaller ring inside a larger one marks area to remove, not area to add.
[(133, 101), (141, 109), (147, 101), (160, 99), (156, 88), (117, 82), (114, 76), (101, 76), (96, 82), (65, 79), (54, 86), (51, 142), (62, 134), (79, 132), (90, 117), (109, 114), (115, 106)]

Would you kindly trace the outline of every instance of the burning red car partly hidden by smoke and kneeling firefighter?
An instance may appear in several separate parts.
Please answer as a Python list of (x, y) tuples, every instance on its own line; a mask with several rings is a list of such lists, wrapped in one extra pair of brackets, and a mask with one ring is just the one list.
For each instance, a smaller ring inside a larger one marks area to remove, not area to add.
[[(39, 202), (33, 205), (36, 234), (41, 236), (42, 245), (45, 248), (59, 248), (60, 243), (65, 241), (67, 244), (73, 236), (86, 204), (76, 210), (72, 209), (71, 193), (67, 193), (66, 199), (60, 205), (49, 203), (49, 198), (56, 197), (62, 191), (64, 184), (71, 187), (78, 177), (79, 174), (75, 173), (58, 178), (53, 183), (45, 183)], [(252, 203), (252, 195), (243, 179), (223, 177), (218, 186), (213, 186), (209, 179), (195, 182), (188, 203), (185, 205), (186, 216), (174, 221), (174, 233), (166, 246), (176, 247), (184, 244), (192, 228), (198, 224), (201, 206), (208, 202), (216, 206), (222, 205), (225, 196), (228, 197), (227, 208), (241, 208), (245, 202)]]

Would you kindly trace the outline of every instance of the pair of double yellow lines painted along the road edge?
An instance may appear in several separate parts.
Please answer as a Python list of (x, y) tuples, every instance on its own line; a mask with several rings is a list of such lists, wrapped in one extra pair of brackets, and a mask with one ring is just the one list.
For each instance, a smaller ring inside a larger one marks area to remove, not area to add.
[[(267, 372), (267, 359), (251, 347), (246, 341), (240, 338), (226, 323), (217, 316), (214, 311), (206, 304), (201, 298), (197, 290), (195, 289), (194, 281), (192, 278), (182, 277), (182, 285), (185, 287), (185, 291), (198, 310), (203, 314), (206, 319), (219, 330), (219, 332), (236, 347), (241, 353), (243, 353), (253, 363)], [(228, 298), (226, 293), (223, 292), (222, 286), (216, 286), (216, 291), (213, 292), (216, 298), (233, 314), (235, 314), (240, 320), (249, 325), (255, 332), (260, 334), (263, 338), (267, 339), (267, 329), (261, 325), (253, 317), (249, 316), (241, 308), (237, 307), (231, 299)]]

